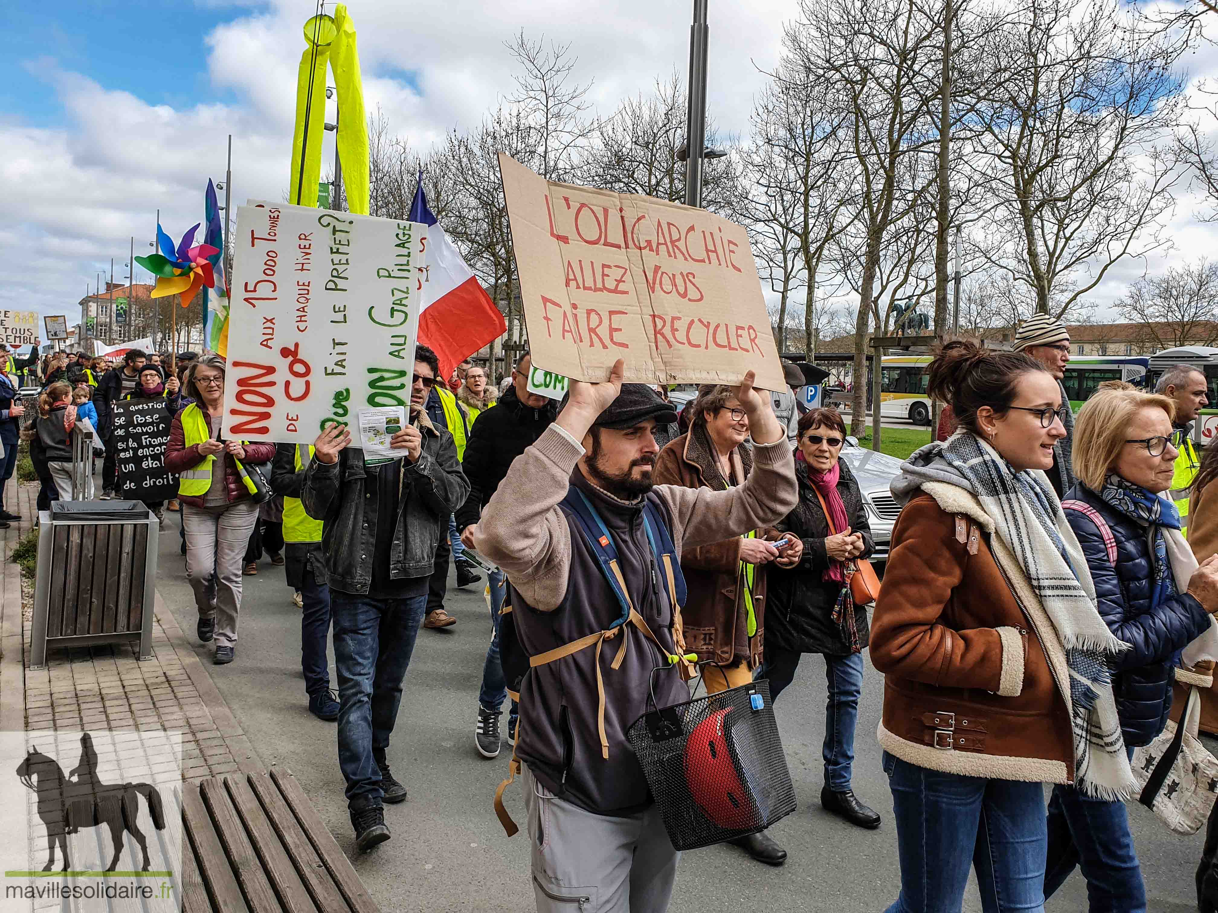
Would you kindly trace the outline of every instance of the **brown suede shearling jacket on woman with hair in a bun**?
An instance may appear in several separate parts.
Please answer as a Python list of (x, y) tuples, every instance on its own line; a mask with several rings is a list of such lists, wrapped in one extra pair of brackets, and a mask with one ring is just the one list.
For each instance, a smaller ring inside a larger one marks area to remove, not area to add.
[(881, 745), (948, 773), (1072, 782), (1066, 662), (1049, 617), (979, 502), (928, 487), (896, 521), (872, 616)]

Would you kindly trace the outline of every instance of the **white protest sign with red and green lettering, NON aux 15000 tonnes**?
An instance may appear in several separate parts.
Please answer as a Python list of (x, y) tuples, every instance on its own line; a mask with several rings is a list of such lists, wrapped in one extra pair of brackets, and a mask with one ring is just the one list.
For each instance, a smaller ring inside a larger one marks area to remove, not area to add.
[(312, 443), (410, 407), (426, 226), (259, 203), (236, 214), (224, 433)]

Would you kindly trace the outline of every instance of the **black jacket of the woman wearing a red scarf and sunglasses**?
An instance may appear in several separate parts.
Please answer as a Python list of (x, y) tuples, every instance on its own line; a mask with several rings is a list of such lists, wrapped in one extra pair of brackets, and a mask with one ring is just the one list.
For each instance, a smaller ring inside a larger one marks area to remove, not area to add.
[[(845, 463), (838, 478), (838, 494), (850, 517), (850, 531), (861, 532), (864, 556), (875, 550), (871, 538), (871, 526), (867, 523), (867, 510), (862, 505), (862, 493), (859, 482)], [(766, 571), (770, 587), (770, 604), (765, 617), (766, 649), (798, 650), (799, 652), (822, 652), (829, 656), (845, 656), (850, 652), (845, 632), (834, 623), (833, 604), (837, 601), (840, 587), (822, 579), (829, 566), (825, 551), (825, 539), (829, 534), (829, 525), (816, 497), (816, 489), (808, 480), (808, 464), (795, 460), (795, 478), (799, 480), (799, 504), (777, 525), (781, 532), (792, 532), (804, 543), (804, 555), (794, 567), (782, 567), (771, 564)], [(859, 628), (859, 643), (867, 645), (867, 610), (864, 606), (854, 609), (855, 624)]]

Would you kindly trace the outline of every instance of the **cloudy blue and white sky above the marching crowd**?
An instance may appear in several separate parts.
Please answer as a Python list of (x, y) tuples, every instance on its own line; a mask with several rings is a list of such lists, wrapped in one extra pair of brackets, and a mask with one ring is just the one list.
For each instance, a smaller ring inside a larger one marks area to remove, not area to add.
[[(133, 235), (136, 256), (151, 252), (158, 208), (175, 239), (201, 219), (207, 179), (224, 177), (229, 133), (234, 200), (281, 198), (312, 0), (0, 5), (11, 49), (0, 58), (0, 309), (77, 323), (77, 303), (99, 271), (108, 279), (111, 258), (114, 281), (125, 281)], [(468, 128), (510, 93), (503, 43), (521, 28), (570, 43), (602, 112), (687, 68), (686, 0), (352, 0), (348, 7), (368, 107), (380, 105), (415, 146)], [(793, 15), (794, 0), (711, 5), (709, 97), (721, 129), (748, 130), (758, 67), (773, 65)], [(1190, 62), (1201, 77), (1213, 55)], [(1144, 269), (1212, 251), (1216, 231), (1196, 224), (1194, 209), (1181, 198), (1170, 254), (1116, 270), (1097, 301), (1118, 297)], [(136, 268), (135, 280), (145, 279)]]

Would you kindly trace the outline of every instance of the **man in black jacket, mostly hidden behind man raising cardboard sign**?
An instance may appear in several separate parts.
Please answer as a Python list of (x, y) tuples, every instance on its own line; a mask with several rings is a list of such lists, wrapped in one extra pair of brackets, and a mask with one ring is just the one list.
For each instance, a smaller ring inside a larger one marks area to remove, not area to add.
[[(558, 411), (553, 399), (529, 392), (530, 358), (526, 352), (512, 371), (512, 386), (498, 403), (477, 416), (465, 446), (462, 469), (470, 489), (465, 506), (458, 519), (464, 530), (476, 523), (482, 505), (491, 500), (499, 482), (508, 475), (512, 461), (526, 448), (536, 443), (541, 432), (549, 427)], [(503, 607), (505, 578), (502, 571), (491, 572), (491, 627), (493, 635), (486, 650), (482, 666), (482, 688), (477, 695), (477, 724), (474, 728), (474, 745), (482, 757), (499, 754), (499, 707), (508, 696), (499, 663), (499, 610)], [(508, 713), (508, 741), (515, 744), (516, 702), (512, 701)]]

